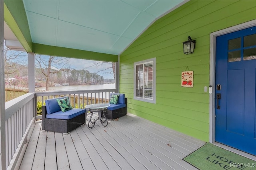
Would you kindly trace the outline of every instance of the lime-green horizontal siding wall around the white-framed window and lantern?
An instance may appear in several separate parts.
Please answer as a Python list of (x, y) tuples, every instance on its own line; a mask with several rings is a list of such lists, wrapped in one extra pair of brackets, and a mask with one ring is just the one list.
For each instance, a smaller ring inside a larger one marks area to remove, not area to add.
[[(189, 1), (155, 21), (120, 55), (120, 92), (128, 112), (209, 141), (210, 33), (256, 19), (256, 1)], [(194, 54), (182, 42), (196, 39)], [(156, 57), (156, 104), (133, 99), (133, 64)], [(194, 87), (181, 87), (181, 72), (194, 71)]]

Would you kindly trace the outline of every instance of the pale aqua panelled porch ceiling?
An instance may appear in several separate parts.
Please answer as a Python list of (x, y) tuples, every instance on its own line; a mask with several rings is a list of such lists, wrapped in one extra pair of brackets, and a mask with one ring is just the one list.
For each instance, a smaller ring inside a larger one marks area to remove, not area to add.
[[(184, 0), (23, 0), (33, 43), (118, 55)], [(7, 37), (7, 35), (5, 35)]]

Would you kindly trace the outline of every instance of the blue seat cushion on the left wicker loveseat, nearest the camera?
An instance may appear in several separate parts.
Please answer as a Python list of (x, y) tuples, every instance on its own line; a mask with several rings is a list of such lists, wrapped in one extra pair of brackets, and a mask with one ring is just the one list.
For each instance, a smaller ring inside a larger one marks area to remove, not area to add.
[(81, 115), (85, 112), (86, 112), (86, 109), (71, 109), (71, 110), (68, 110), (68, 111), (65, 111), (65, 112), (62, 112), (60, 110), (60, 111), (57, 111), (57, 112), (52, 113), (52, 114), (47, 114), (46, 118), (48, 118), (48, 119), (65, 119), (65, 120), (68, 120), (68, 119), (72, 119), (72, 118), (74, 118), (78, 115)]

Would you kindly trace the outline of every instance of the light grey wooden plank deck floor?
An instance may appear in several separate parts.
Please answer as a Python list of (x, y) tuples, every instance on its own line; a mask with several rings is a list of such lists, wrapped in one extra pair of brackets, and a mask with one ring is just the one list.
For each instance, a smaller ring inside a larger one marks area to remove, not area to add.
[(82, 125), (68, 135), (42, 131), (37, 121), (15, 169), (192, 170), (196, 168), (182, 158), (204, 144), (129, 113), (108, 120), (107, 127)]

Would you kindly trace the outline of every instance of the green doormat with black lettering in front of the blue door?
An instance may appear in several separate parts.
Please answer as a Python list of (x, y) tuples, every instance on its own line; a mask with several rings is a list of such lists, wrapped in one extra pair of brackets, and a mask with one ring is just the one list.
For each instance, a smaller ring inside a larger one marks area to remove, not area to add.
[(211, 143), (183, 158), (199, 170), (255, 170), (256, 161)]

